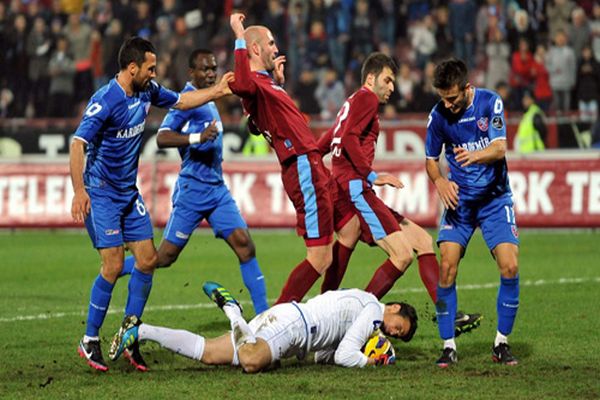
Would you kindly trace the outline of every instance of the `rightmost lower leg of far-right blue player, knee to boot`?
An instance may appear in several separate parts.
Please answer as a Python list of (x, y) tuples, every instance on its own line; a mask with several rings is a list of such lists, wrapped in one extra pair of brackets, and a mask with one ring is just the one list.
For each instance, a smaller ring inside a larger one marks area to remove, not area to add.
[(500, 270), (500, 288), (498, 289), (498, 330), (492, 349), (495, 362), (515, 365), (518, 360), (512, 355), (508, 345), (508, 335), (519, 309), (519, 247), (512, 243), (500, 243), (492, 251)]

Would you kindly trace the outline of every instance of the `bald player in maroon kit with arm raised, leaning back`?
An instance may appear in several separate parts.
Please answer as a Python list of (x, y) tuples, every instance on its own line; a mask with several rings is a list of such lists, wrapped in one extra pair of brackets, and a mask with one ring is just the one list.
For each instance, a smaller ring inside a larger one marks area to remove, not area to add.
[(230, 87), (275, 150), (284, 189), (296, 209), (296, 230), (304, 237), (307, 254), (291, 272), (276, 304), (300, 301), (331, 264), (333, 204), (328, 173), (306, 120), (280, 86), (285, 58), (277, 57), (273, 34), (264, 26), (244, 29), (244, 19), (243, 14), (230, 17), (236, 37), (235, 82)]

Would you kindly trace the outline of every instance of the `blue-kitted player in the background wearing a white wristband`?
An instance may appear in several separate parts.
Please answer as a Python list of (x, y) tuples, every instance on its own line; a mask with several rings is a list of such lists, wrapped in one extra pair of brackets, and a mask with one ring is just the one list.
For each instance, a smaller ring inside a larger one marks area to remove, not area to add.
[[(217, 61), (211, 51), (194, 50), (188, 63), (191, 81), (183, 93), (216, 83)], [(160, 148), (178, 147), (183, 161), (173, 193), (173, 211), (158, 247), (157, 268), (177, 260), (194, 229), (206, 218), (215, 236), (223, 238), (238, 257), (254, 311), (260, 314), (269, 308), (264, 277), (248, 226), (223, 182), (223, 124), (216, 105), (210, 102), (191, 110), (171, 109), (157, 142)], [(134, 257), (127, 257), (123, 273), (129, 273), (134, 262)]]

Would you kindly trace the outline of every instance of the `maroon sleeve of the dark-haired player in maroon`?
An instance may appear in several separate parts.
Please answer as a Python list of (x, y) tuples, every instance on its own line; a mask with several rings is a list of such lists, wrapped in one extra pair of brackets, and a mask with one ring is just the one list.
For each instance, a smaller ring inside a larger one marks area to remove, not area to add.
[(379, 101), (371, 93), (359, 94), (348, 111), (348, 120), (344, 124), (341, 147), (356, 172), (365, 179), (373, 171), (360, 145), (360, 135), (378, 112)]

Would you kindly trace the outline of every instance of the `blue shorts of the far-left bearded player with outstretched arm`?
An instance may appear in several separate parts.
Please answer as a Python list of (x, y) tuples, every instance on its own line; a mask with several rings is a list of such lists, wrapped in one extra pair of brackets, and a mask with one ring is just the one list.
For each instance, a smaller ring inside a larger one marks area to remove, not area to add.
[(123, 242), (152, 239), (152, 223), (137, 190), (116, 192), (106, 188), (86, 188), (91, 209), (85, 227), (97, 249), (118, 247)]

